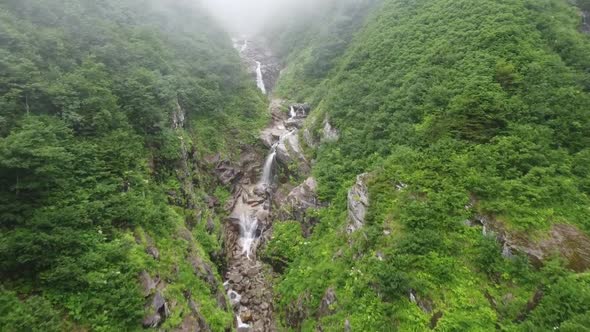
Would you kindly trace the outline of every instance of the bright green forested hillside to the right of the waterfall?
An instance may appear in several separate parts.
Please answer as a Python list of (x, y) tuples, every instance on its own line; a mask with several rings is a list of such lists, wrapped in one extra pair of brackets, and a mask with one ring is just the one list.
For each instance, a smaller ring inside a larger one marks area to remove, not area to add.
[(277, 91), (314, 108), (302, 141), (324, 207), (308, 238), (274, 226), (283, 329), (590, 329), (579, 8), (385, 0), (367, 15), (329, 66), (313, 42), (285, 55)]

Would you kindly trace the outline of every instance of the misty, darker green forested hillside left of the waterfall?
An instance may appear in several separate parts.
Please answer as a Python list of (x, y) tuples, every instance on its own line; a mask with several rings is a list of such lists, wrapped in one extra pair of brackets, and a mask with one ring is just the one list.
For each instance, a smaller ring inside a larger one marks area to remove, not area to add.
[(205, 157), (265, 106), (195, 2), (2, 1), (0, 330), (230, 328)]

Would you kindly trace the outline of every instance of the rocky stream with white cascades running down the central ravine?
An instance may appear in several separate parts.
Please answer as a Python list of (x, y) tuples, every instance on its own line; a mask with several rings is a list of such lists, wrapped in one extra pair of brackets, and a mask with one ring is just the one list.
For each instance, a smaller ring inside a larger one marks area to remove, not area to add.
[[(278, 65), (269, 52), (252, 40), (234, 39), (234, 48), (240, 53), (256, 85), (263, 94), (269, 94)], [(268, 74), (268, 77), (267, 75)], [(272, 103), (271, 103), (272, 104)], [(272, 108), (272, 107), (271, 107)], [(272, 197), (277, 188), (277, 154), (281, 144), (293, 135), (287, 122), (296, 116), (291, 108), (289, 118), (276, 107), (272, 123), (263, 131), (273, 132), (265, 143), (269, 151), (262, 158), (251, 152), (240, 169), (244, 176), (233, 184), (232, 202), (228, 211), (226, 249), (228, 269), (224, 286), (236, 315), (239, 332), (276, 331), (272, 310), (272, 286), (267, 276), (269, 268), (258, 260), (257, 249), (269, 235), (272, 226)]]

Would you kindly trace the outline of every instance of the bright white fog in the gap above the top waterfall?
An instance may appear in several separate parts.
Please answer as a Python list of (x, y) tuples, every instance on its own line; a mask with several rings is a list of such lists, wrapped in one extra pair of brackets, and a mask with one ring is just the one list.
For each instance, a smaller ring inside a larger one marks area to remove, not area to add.
[(269, 22), (292, 13), (308, 11), (332, 0), (201, 0), (204, 6), (233, 34), (260, 32)]

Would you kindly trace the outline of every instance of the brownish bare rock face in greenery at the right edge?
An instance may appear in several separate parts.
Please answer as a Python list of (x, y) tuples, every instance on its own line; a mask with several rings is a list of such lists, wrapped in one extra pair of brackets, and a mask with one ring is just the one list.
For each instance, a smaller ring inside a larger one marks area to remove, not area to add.
[(508, 232), (501, 222), (490, 216), (477, 216), (468, 224), (482, 225), (484, 235), (495, 236), (502, 244), (504, 257), (521, 252), (534, 265), (540, 266), (553, 253), (559, 253), (574, 271), (582, 272), (590, 268), (590, 238), (575, 226), (554, 224), (545, 238), (533, 241), (528, 234)]

